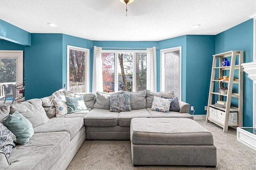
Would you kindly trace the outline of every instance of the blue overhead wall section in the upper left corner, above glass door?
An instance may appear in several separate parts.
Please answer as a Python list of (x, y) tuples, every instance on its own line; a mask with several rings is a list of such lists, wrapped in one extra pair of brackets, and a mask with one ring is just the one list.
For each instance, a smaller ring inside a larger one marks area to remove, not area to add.
[(31, 35), (4, 20), (0, 20), (0, 38), (21, 45), (31, 45)]

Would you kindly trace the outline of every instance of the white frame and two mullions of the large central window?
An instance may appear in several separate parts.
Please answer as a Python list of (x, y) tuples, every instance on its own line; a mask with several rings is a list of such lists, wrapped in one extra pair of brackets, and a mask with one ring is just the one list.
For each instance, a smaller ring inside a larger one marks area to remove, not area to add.
[[(118, 53), (133, 53), (133, 59), (132, 59), (132, 64), (133, 64), (133, 75), (136, 73), (136, 53), (147, 53), (147, 50), (109, 50), (109, 49), (102, 49), (102, 53), (114, 53), (115, 54), (115, 66), (114, 66), (114, 71), (115, 71), (115, 76), (114, 76), (114, 92), (118, 91), (118, 74), (116, 74), (116, 71), (118, 69)], [(116, 83), (117, 82), (117, 83)], [(132, 91), (135, 92), (136, 90), (136, 76), (132, 76)]]

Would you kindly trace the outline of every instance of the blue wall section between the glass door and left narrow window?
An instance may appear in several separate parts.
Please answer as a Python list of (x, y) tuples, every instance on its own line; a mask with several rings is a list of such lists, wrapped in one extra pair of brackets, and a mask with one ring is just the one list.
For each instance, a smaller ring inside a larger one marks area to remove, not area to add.
[(62, 88), (62, 34), (31, 34), (25, 47), (25, 100), (50, 96)]

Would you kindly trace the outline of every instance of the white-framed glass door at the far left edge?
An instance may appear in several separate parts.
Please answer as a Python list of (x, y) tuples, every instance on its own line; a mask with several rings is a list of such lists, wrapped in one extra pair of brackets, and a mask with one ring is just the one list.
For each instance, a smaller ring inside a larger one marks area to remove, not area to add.
[(0, 105), (15, 103), (23, 83), (23, 51), (0, 50)]

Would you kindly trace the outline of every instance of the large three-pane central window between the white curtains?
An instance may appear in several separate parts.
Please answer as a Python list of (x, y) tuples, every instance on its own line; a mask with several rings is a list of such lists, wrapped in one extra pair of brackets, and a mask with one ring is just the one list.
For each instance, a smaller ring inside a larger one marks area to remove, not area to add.
[(146, 90), (146, 51), (102, 51), (103, 91)]

